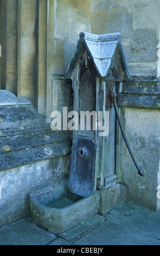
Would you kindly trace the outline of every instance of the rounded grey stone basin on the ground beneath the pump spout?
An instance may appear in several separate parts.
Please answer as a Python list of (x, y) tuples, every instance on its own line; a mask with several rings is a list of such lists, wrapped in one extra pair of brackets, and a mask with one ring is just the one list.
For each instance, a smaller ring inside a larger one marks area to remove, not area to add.
[(55, 182), (30, 194), (32, 221), (50, 233), (63, 233), (98, 214), (98, 192), (82, 198), (70, 193), (68, 182)]

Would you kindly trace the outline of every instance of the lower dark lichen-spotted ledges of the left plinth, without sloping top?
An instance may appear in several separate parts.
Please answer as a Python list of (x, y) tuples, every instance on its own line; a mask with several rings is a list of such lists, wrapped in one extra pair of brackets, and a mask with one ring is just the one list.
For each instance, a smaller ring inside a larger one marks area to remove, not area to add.
[(49, 124), (1, 132), (0, 171), (71, 154), (69, 133), (52, 131)]

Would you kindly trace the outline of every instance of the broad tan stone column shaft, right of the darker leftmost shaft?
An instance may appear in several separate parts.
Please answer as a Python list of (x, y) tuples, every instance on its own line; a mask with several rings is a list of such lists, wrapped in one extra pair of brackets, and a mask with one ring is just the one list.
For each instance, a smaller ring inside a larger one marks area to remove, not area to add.
[(18, 96), (36, 103), (37, 1), (18, 0)]

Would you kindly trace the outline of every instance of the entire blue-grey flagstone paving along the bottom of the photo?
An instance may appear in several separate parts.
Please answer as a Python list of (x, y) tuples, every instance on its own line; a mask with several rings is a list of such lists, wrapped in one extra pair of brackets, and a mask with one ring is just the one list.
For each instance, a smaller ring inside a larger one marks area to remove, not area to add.
[(125, 202), (62, 234), (23, 218), (0, 228), (0, 245), (160, 245), (160, 213)]

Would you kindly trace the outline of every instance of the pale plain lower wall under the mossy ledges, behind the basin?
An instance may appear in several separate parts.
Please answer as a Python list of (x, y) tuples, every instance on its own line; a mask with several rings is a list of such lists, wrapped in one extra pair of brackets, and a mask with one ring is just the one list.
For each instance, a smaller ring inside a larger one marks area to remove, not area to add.
[(0, 172), (0, 227), (30, 214), (29, 193), (68, 176), (70, 157), (60, 156)]

